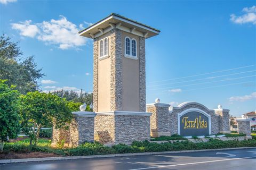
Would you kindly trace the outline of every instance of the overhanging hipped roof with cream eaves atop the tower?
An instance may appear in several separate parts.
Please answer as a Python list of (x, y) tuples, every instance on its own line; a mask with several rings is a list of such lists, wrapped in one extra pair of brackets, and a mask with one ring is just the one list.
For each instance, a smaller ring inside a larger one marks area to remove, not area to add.
[(87, 38), (96, 38), (111, 29), (117, 28), (134, 35), (150, 38), (159, 34), (159, 30), (137, 21), (125, 18), (119, 14), (111, 13), (106, 18), (92, 24), (90, 27), (79, 31), (79, 35)]

